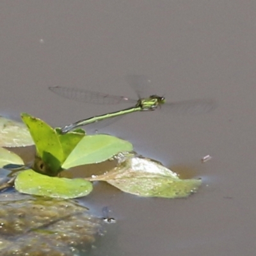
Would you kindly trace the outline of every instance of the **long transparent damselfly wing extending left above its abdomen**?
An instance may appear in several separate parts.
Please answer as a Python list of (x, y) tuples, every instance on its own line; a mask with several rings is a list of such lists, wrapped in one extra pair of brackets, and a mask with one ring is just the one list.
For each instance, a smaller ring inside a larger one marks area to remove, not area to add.
[(67, 88), (61, 86), (49, 87), (52, 92), (65, 97), (67, 99), (74, 99), (81, 102), (88, 102), (93, 104), (118, 104), (131, 103), (136, 104), (138, 100), (128, 99), (122, 96), (109, 95), (99, 92), (91, 92), (79, 88)]

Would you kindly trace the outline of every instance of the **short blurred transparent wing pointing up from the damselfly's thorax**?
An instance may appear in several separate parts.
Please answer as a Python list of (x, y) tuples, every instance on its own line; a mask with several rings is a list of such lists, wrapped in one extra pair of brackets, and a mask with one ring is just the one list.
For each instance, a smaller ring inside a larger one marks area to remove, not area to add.
[(137, 93), (139, 99), (156, 94), (156, 92), (153, 92), (155, 89), (147, 76), (129, 74), (126, 76), (126, 81)]

